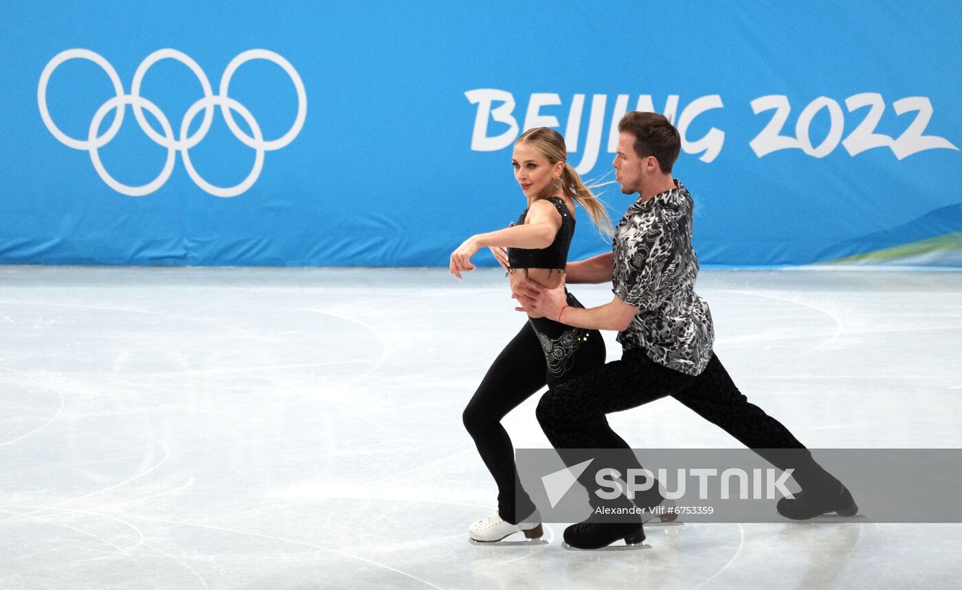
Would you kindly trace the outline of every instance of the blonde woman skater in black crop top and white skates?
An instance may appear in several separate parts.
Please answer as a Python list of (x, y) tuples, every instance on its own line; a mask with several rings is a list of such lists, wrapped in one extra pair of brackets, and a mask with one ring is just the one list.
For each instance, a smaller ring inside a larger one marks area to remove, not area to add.
[[(461, 273), (475, 268), (470, 258), (488, 247), (508, 272), (512, 286), (527, 277), (548, 288), (557, 287), (574, 234), (575, 202), (602, 231), (612, 233), (604, 206), (567, 160), (565, 140), (556, 131), (540, 127), (522, 134), (515, 141), (512, 164), (527, 209), (517, 224), (465, 240), (451, 254), (449, 272), (461, 279)], [(583, 307), (570, 293), (568, 305)], [(535, 313), (528, 314), (518, 335), (494, 359), (464, 411), (465, 428), (498, 490), (497, 510), (471, 524), (471, 539), (500, 541), (517, 531), (529, 539), (542, 536), (535, 504), (523, 491), (523, 497), (516, 498), (516, 485), (520, 489), (520, 484), (514, 447), (501, 419), (545, 384), (554, 387), (604, 362), (600, 332), (571, 328)]]

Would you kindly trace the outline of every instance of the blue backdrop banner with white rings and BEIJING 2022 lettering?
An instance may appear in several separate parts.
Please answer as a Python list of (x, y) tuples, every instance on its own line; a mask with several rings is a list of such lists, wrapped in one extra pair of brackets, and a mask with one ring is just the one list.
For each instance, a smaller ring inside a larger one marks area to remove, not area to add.
[[(640, 109), (683, 133), (704, 265), (962, 266), (959, 31), (948, 1), (8, 1), (0, 262), (444, 265), (524, 209), (523, 129), (603, 180)], [(581, 218), (572, 258), (607, 247)]]

